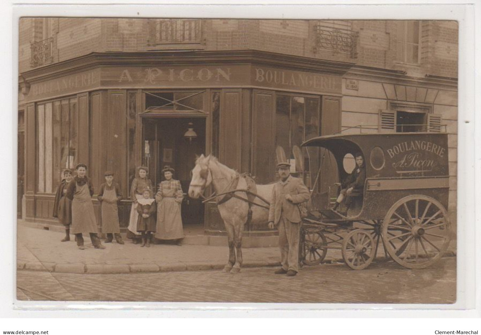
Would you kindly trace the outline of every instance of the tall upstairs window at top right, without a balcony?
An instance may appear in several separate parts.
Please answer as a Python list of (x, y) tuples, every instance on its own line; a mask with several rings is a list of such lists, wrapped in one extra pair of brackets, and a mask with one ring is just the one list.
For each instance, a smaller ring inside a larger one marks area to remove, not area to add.
[(420, 21), (397, 22), (396, 60), (406, 64), (419, 64)]

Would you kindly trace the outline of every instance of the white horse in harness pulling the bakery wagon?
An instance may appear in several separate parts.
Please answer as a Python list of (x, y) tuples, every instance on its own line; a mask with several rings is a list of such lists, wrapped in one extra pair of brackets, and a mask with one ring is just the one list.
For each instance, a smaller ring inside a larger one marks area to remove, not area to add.
[[(236, 181), (237, 185), (236, 184)], [(189, 196), (191, 198), (199, 198), (203, 191), (213, 185), (215, 193), (218, 195), (217, 207), (220, 216), (224, 220), (228, 234), (229, 245), (229, 261), (224, 267), (224, 272), (233, 274), (241, 271), (242, 265), (242, 231), (247, 221), (249, 211), (249, 200), (246, 191), (236, 191), (233, 197), (223, 202), (224, 193), (232, 190), (246, 190), (247, 182), (244, 178), (239, 178), (239, 173), (225, 165), (219, 163), (217, 158), (212, 155), (204, 157), (201, 155), (195, 161), (195, 167), (192, 169), (192, 180), (189, 186)], [(256, 197), (251, 206), (253, 223), (266, 223), (269, 216), (268, 203), (261, 200), (262, 198), (270, 203), (272, 198), (272, 188), (274, 184), (256, 185)], [(227, 198), (226, 198), (227, 199)], [(224, 199), (225, 200), (225, 199)], [(257, 205), (256, 205), (257, 204)], [(237, 249), (237, 257), (234, 251)]]

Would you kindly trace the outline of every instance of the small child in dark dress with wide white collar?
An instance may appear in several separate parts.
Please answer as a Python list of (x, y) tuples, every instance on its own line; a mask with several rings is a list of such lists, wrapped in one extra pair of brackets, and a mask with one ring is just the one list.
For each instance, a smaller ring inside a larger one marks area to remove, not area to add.
[(155, 232), (156, 220), (154, 214), (157, 210), (155, 199), (152, 198), (152, 191), (146, 187), (142, 192), (142, 198), (138, 199), (137, 212), (137, 232), (142, 234), (141, 247), (150, 247), (152, 233)]

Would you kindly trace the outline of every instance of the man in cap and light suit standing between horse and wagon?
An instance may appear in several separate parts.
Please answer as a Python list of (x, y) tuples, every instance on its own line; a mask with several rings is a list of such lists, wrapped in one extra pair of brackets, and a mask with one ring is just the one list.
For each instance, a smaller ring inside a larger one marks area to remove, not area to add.
[(277, 275), (294, 276), (299, 272), (299, 204), (307, 202), (310, 193), (302, 179), (291, 176), (289, 163), (278, 163), (280, 180), (272, 189), (268, 227), (279, 230), (280, 263)]

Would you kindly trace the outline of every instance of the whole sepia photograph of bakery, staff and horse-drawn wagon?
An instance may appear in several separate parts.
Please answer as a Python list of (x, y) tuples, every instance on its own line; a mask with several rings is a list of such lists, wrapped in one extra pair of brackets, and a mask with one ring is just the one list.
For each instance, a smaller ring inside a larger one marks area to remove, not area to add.
[(455, 304), (458, 22), (316, 16), (21, 17), (17, 302)]

